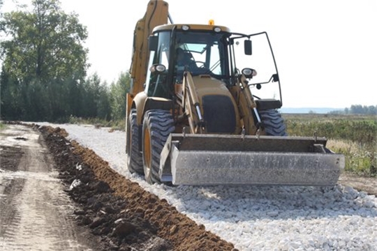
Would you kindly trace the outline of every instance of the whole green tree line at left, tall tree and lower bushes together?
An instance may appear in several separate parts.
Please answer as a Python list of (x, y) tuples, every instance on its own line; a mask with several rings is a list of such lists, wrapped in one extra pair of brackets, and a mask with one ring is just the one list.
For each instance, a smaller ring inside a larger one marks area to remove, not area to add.
[(87, 28), (58, 0), (1, 12), (0, 33), (0, 119), (124, 119), (130, 75), (120, 73), (110, 85), (87, 76)]

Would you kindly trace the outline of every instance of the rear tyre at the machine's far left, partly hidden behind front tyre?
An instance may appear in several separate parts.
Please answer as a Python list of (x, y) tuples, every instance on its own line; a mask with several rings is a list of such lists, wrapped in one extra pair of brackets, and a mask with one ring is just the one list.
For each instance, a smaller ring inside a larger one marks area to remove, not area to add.
[(127, 167), (131, 173), (143, 174), (142, 153), (140, 152), (140, 137), (136, 109), (131, 109), (127, 128)]

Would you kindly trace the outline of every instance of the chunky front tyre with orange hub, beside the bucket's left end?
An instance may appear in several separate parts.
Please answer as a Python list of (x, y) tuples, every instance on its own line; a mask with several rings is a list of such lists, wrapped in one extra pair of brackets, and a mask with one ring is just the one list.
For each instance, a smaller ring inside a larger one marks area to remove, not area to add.
[(145, 180), (149, 184), (161, 183), (158, 175), (161, 151), (174, 130), (174, 120), (169, 111), (151, 109), (145, 113), (142, 125), (142, 162)]

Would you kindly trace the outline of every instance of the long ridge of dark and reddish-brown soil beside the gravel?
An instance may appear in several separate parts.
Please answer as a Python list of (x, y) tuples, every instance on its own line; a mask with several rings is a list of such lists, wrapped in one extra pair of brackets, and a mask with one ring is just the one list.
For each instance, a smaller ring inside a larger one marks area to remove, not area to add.
[(103, 250), (235, 250), (164, 199), (121, 176), (91, 149), (66, 139), (61, 128), (39, 127), (66, 183), (80, 205), (78, 225), (100, 238)]

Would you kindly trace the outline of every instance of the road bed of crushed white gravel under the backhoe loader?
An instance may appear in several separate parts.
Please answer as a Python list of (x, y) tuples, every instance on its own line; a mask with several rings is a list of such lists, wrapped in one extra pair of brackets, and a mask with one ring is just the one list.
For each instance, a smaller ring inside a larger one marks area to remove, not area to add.
[(125, 134), (93, 126), (52, 125), (93, 149), (109, 165), (166, 199), (181, 213), (239, 250), (376, 250), (375, 195), (337, 185), (288, 186), (149, 185), (126, 168)]

